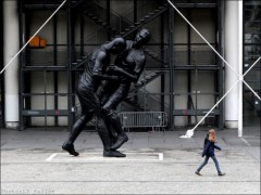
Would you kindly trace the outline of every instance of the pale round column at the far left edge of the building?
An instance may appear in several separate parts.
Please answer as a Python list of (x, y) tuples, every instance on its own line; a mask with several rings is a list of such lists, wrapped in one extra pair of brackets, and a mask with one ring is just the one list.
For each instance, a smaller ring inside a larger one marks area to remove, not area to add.
[[(16, 0), (3, 1), (4, 65), (20, 49), (18, 12)], [(18, 57), (4, 72), (4, 119), (7, 128), (18, 127)]]

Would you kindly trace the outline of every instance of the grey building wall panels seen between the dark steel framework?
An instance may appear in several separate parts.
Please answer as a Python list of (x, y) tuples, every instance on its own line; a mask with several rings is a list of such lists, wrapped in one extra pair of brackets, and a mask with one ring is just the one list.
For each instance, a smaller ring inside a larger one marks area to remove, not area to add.
[[(104, 1), (100, 1), (101, 6), (105, 6)], [(138, 1), (140, 4), (138, 4), (138, 16), (144, 16), (150, 11), (154, 10), (157, 8), (156, 3), (147, 3), (146, 5), (142, 5), (142, 1)], [(124, 16), (127, 17), (129, 21), (133, 20), (132, 10), (133, 4), (127, 3), (126, 1), (111, 1), (111, 8), (113, 10), (114, 15)], [(99, 10), (97, 10), (99, 12)], [(45, 20), (51, 14), (49, 11), (36, 11), (32, 15), (32, 23), (30, 23), (30, 35), (33, 35), (37, 28), (45, 22)], [(114, 15), (111, 16), (112, 18), (112, 26), (114, 26), (116, 29), (120, 29), (121, 26), (116, 26), (117, 17)], [(104, 17), (104, 15), (101, 14), (101, 17)], [(164, 14), (164, 41), (167, 43), (167, 12)], [(191, 22), (192, 24), (199, 29), (199, 31), (202, 32), (206, 38), (214, 43), (215, 42), (215, 13), (213, 13), (211, 10), (194, 10), (191, 12)], [(147, 26), (152, 34), (152, 40), (151, 43), (159, 43), (160, 42), (160, 17), (156, 18), (152, 23), (148, 24)], [(101, 29), (99, 25), (96, 25), (91, 20), (85, 18), (85, 43), (95, 44), (95, 46), (86, 46), (85, 52), (90, 53), (91, 50), (96, 47), (96, 44), (101, 44), (107, 41), (107, 32)], [(181, 18), (178, 15), (175, 15), (175, 24), (174, 24), (174, 43), (179, 44), (175, 46), (175, 52), (179, 52), (181, 55), (178, 55), (174, 61), (176, 64), (178, 63), (187, 63), (186, 62), (186, 48), (184, 46), (181, 46), (181, 43), (187, 43), (187, 24), (186, 22)], [(39, 32), (39, 36), (41, 38), (45, 38), (47, 40), (47, 44), (53, 44), (53, 21), (47, 24), (47, 26)], [(76, 17), (75, 22), (75, 43), (79, 43), (79, 16)], [(200, 37), (196, 32), (191, 30), (191, 43), (203, 43)], [(64, 11), (60, 11), (58, 14), (58, 44), (66, 44), (66, 14)], [(148, 47), (156, 53), (159, 53), (159, 47), (150, 46)], [(202, 48), (202, 49), (201, 49)], [(202, 62), (211, 62), (211, 60), (206, 58), (208, 55), (206, 55), (204, 50), (208, 47), (195, 47), (195, 50), (202, 50), (201, 54), (199, 54)], [(64, 65), (66, 62), (66, 47), (65, 46), (59, 46), (59, 65)], [(78, 51), (79, 48), (76, 47), (76, 51)], [(207, 51), (209, 52), (209, 51)], [(52, 64), (52, 60), (50, 62), (47, 62), (47, 58), (52, 58), (52, 46), (46, 47), (45, 49), (38, 49), (36, 51), (33, 51), (33, 57), (32, 61), (36, 65), (39, 64)], [(42, 54), (44, 53), (44, 54)], [(77, 54), (76, 54), (77, 55)], [(181, 58), (181, 56), (183, 56)], [(166, 56), (165, 56), (165, 60)], [(154, 61), (152, 61), (150, 57), (147, 57), (147, 65), (146, 66), (157, 66)], [(32, 74), (32, 82), (30, 82), (30, 89), (32, 93), (34, 92), (54, 92), (54, 79), (53, 79), (53, 73), (47, 73), (47, 83), (45, 89), (45, 82), (42, 82), (42, 78), (45, 75), (42, 73), (34, 73)], [(194, 92), (196, 90), (196, 84), (198, 86), (198, 93), (202, 92), (213, 92), (214, 91), (214, 80), (213, 80), (213, 74), (210, 72), (203, 72), (198, 74), (198, 81), (196, 82), (195, 73), (191, 72), (191, 91)], [(58, 92), (67, 92), (67, 86), (66, 86), (66, 73), (59, 73), (58, 76)], [(160, 77), (150, 82), (146, 86), (146, 90), (151, 93), (160, 93), (161, 89), (161, 79)], [(184, 93), (187, 92), (187, 72), (176, 72), (174, 75), (174, 89), (175, 93)], [(170, 77), (169, 74), (165, 74), (165, 92), (167, 93), (170, 91)], [(154, 98), (153, 98), (154, 96)], [(150, 105), (151, 103), (160, 105), (160, 98), (159, 95), (150, 95), (150, 99), (148, 99)], [(194, 102), (195, 102), (194, 96)], [(47, 105), (46, 107), (49, 109), (54, 108), (54, 98), (48, 96), (47, 98)], [(59, 96), (59, 108), (66, 108), (67, 107), (67, 98), (66, 96)], [(44, 96), (33, 96), (32, 99), (32, 108), (33, 109), (44, 109), (45, 108), (45, 99)], [(195, 102), (196, 103), (196, 102)], [(169, 96), (165, 95), (165, 109), (167, 109), (167, 106), (170, 104)], [(201, 95), (198, 98), (198, 108), (210, 108), (214, 104), (214, 98), (212, 95)], [(149, 105), (149, 104), (148, 104)], [(186, 109), (187, 108), (187, 95), (175, 95), (175, 108)], [(200, 118), (198, 118), (200, 119)], [(195, 120), (195, 118), (192, 118)], [(45, 119), (44, 118), (33, 118), (32, 120), (33, 126), (44, 126)], [(47, 120), (48, 126), (54, 125), (54, 117), (49, 117)], [(66, 117), (60, 117), (59, 118), (59, 125), (65, 126), (67, 125)], [(187, 117), (175, 117), (175, 125), (176, 126), (185, 126), (187, 125)]]

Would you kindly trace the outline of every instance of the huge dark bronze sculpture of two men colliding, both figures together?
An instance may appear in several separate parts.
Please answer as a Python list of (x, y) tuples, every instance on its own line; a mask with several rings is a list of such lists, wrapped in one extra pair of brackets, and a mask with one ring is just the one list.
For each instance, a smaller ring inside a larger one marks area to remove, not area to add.
[[(74, 123), (73, 131), (64, 142), (62, 146), (64, 151), (74, 156), (78, 155), (74, 150), (74, 141), (83, 131), (84, 126), (96, 115), (98, 133), (103, 144), (103, 156), (126, 156), (116, 151), (128, 138), (114, 110), (128, 94), (130, 83), (137, 82), (144, 70), (146, 57), (142, 46), (150, 38), (150, 31), (144, 28), (137, 32), (134, 41), (125, 42), (123, 38), (116, 38), (107, 44), (102, 44), (94, 52), (88, 66), (80, 75), (77, 87), (83, 114)], [(114, 62), (115, 65), (109, 66), (110, 53), (119, 54)], [(103, 87), (99, 99), (97, 89), (101, 84), (101, 80), (107, 80), (108, 83)]]

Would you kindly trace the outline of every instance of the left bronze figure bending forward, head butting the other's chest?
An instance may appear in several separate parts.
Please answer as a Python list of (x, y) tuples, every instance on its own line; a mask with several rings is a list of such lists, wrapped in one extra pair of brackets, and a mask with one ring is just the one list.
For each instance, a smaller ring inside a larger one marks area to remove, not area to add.
[[(119, 54), (125, 48), (126, 42), (123, 38), (115, 38), (111, 42), (102, 44), (92, 53), (85, 72), (80, 75), (77, 86), (77, 96), (80, 102), (83, 114), (74, 123), (69, 139), (62, 145), (62, 148), (67, 151), (71, 155), (78, 156), (78, 153), (74, 150), (74, 142), (83, 131), (84, 126), (92, 118), (94, 114), (100, 118), (100, 129), (98, 132), (104, 145), (104, 151), (110, 151), (111, 141), (105, 125), (103, 125), (104, 120), (101, 115), (100, 101), (96, 91), (102, 79), (115, 80), (117, 78), (107, 75), (105, 68), (110, 64), (110, 53)], [(113, 155), (121, 156), (117, 152), (114, 152)]]

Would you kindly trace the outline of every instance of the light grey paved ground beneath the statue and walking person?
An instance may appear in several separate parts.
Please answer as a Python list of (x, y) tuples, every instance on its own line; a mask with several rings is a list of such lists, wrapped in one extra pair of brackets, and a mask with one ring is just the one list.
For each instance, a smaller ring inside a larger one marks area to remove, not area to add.
[(216, 152), (225, 177), (212, 160), (202, 176), (207, 131), (179, 139), (186, 129), (128, 132), (126, 158), (102, 157), (97, 132), (84, 131), (73, 157), (61, 150), (65, 129), (1, 130), (1, 194), (260, 194), (260, 129), (217, 131)]

